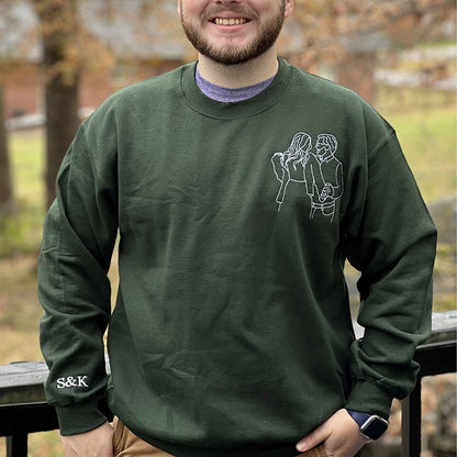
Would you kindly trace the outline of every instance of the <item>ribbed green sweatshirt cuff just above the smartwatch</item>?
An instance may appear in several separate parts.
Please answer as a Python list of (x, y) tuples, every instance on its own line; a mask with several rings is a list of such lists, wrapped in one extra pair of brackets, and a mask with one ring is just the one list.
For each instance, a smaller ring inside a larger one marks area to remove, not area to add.
[(377, 414), (388, 420), (392, 400), (392, 394), (382, 386), (359, 380), (353, 387), (346, 409)]

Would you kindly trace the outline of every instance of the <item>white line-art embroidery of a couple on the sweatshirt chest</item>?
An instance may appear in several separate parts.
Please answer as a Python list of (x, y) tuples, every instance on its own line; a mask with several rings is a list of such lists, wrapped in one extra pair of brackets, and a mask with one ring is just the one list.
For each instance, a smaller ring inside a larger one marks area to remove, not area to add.
[(299, 132), (287, 151), (272, 155), (272, 168), (281, 183), (276, 197), (278, 212), (285, 202), (289, 182), (303, 182), (311, 200), (310, 218), (313, 219), (319, 211), (333, 222), (336, 201), (344, 191), (343, 164), (335, 157), (337, 148), (338, 142), (334, 135), (321, 133), (315, 152), (312, 152), (311, 136)]

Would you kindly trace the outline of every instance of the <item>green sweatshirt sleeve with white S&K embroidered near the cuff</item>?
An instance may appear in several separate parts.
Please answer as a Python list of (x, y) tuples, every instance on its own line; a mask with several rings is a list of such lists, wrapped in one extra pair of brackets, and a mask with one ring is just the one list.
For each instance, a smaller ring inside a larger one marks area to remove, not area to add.
[(107, 386), (107, 272), (118, 233), (115, 140), (90, 125), (89, 120), (80, 127), (63, 160), (38, 260), (41, 346), (49, 368), (45, 393), (63, 435), (107, 421), (98, 401)]

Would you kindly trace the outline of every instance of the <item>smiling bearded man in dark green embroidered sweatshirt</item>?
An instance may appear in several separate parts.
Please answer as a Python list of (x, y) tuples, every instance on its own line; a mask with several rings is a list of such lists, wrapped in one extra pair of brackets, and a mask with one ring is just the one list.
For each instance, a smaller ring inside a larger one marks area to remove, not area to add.
[[(38, 268), (67, 457), (113, 455), (104, 397), (123, 457), (349, 457), (413, 388), (435, 228), (390, 125), (277, 57), (292, 7), (181, 0), (198, 65), (115, 93), (69, 148)], [(304, 170), (278, 211), (272, 157), (300, 132), (338, 146), (332, 218), (313, 212)], [(346, 258), (361, 271), (361, 341)]]

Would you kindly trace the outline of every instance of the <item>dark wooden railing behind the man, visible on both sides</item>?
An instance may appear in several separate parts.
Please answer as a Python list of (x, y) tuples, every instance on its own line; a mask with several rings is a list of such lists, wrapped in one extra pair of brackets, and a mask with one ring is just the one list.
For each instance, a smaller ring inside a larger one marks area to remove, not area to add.
[[(422, 378), (456, 371), (457, 311), (435, 313), (432, 327), (431, 338), (415, 354), (421, 364), (416, 387), (402, 402), (402, 457), (421, 454)], [(58, 428), (54, 408), (44, 398), (47, 372), (43, 361), (0, 366), (0, 436), (7, 437), (7, 457), (27, 455), (30, 433)]]

